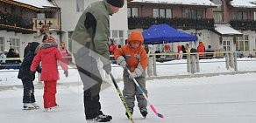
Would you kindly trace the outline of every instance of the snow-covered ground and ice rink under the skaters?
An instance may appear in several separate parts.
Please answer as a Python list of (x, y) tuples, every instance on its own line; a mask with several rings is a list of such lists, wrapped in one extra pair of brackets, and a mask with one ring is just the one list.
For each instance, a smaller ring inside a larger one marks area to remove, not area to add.
[[(200, 73), (233, 72), (226, 70), (224, 59), (205, 59), (211, 62), (200, 65)], [(238, 71), (255, 71), (256, 59), (239, 58)], [(243, 60), (243, 61), (241, 61)], [(212, 77), (165, 79), (167, 76), (190, 75), (185, 60), (158, 63), (158, 76), (164, 79), (147, 80), (148, 99), (165, 118), (158, 118), (148, 107), (149, 114), (142, 118), (137, 107), (133, 118), (136, 123), (254, 123), (256, 122), (256, 72)], [(174, 64), (176, 63), (176, 64)], [(163, 65), (166, 64), (166, 65)], [(172, 64), (172, 65), (169, 65)], [(63, 71), (60, 70), (60, 73)], [(121, 79), (122, 68), (114, 65), (116, 79)], [(86, 123), (82, 103), (82, 85), (77, 72), (70, 69), (69, 77), (61, 79), (58, 85), (58, 112), (45, 113), (43, 109), (22, 110), (23, 89), (17, 72), (0, 71), (0, 122), (7, 123)], [(108, 80), (110, 81), (110, 80)], [(43, 106), (42, 85), (36, 84), (36, 99)], [(11, 86), (15, 85), (15, 86)], [(122, 82), (118, 83), (122, 90)], [(4, 89), (5, 88), (5, 89)], [(7, 89), (6, 89), (7, 88)], [(115, 87), (105, 83), (101, 92), (103, 113), (113, 117), (113, 123), (131, 122), (124, 115), (124, 106)]]

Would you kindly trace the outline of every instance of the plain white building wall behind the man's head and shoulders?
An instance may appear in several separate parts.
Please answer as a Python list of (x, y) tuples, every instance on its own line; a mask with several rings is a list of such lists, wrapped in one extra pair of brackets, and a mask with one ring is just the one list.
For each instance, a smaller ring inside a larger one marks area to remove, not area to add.
[[(99, 0), (85, 0), (84, 8), (86, 8), (89, 3), (96, 1)], [(55, 2), (61, 8), (61, 28), (62, 31), (66, 32), (62, 36), (62, 41), (68, 42), (68, 31), (75, 30), (75, 25), (82, 12), (76, 12), (76, 0), (55, 0)], [(127, 21), (127, 2), (125, 1), (124, 7), (110, 17), (110, 30), (122, 30), (124, 31), (124, 38), (127, 38)]]

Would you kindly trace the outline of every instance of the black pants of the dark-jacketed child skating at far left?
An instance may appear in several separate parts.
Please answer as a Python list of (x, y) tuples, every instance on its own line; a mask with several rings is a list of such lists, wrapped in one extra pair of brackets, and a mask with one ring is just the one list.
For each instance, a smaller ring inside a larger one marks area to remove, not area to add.
[(23, 84), (23, 103), (34, 103), (34, 85), (32, 79), (21, 79)]

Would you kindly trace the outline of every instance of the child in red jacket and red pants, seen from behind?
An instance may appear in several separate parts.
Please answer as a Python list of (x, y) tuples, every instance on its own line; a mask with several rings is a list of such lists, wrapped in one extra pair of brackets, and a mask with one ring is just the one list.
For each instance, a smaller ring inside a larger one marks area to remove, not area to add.
[(58, 107), (56, 103), (56, 85), (60, 79), (58, 71), (58, 62), (64, 70), (64, 74), (68, 77), (68, 65), (60, 61), (62, 58), (55, 39), (52, 36), (47, 37), (46, 43), (41, 44), (41, 49), (33, 58), (30, 67), (31, 72), (35, 72), (37, 66), (41, 62), (41, 81), (44, 81), (44, 108), (45, 111), (51, 111), (54, 107)]

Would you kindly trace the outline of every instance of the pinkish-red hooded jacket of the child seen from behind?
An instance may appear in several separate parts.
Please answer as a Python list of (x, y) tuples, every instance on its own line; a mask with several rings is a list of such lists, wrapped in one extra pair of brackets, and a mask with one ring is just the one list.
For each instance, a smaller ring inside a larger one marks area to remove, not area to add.
[(30, 70), (32, 72), (36, 71), (36, 67), (41, 62), (42, 71), (41, 71), (41, 81), (46, 80), (58, 80), (59, 71), (58, 71), (58, 64), (59, 61), (61, 68), (64, 71), (68, 70), (68, 65), (64, 64), (60, 61), (62, 58), (61, 53), (58, 48), (56, 47), (49, 47), (45, 49), (41, 49), (38, 54), (33, 58), (32, 65)]

